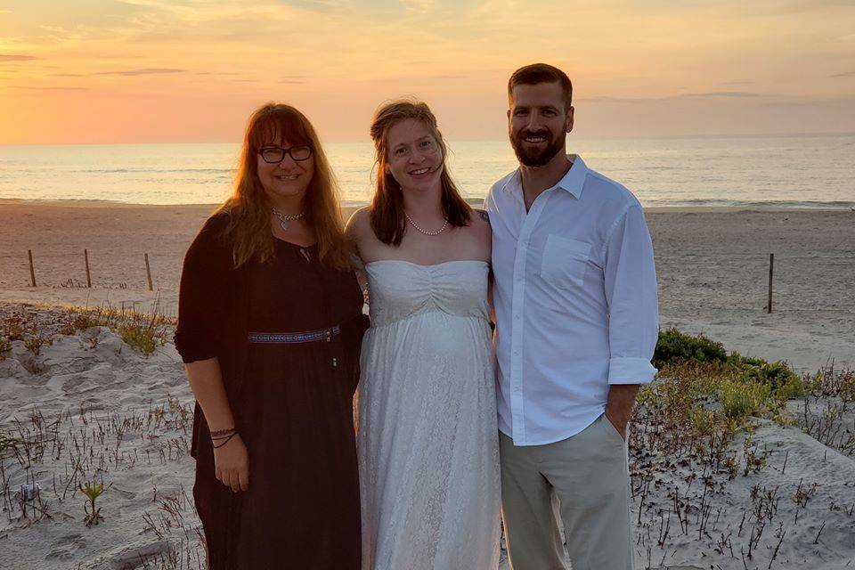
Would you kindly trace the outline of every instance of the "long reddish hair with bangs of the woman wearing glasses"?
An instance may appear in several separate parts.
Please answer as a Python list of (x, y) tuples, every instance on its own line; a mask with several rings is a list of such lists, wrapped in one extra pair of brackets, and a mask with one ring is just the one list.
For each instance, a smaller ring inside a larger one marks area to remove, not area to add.
[(289, 144), (312, 147), (314, 175), (305, 192), (305, 220), (314, 228), (321, 263), (349, 269), (351, 247), (345, 238), (338, 206), (338, 184), (321, 141), (303, 113), (290, 105), (273, 102), (258, 108), (249, 118), (234, 191), (217, 209), (217, 213), (230, 214), (225, 232), (232, 241), (234, 267), (254, 257), (261, 262), (273, 257), (272, 205), (258, 178), (257, 152), (280, 136)]

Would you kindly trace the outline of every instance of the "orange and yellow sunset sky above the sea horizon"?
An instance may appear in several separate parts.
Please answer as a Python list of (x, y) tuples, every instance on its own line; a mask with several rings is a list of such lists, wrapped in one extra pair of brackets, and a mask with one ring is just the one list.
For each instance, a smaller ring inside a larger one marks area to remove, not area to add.
[(851, 0), (0, 0), (0, 143), (234, 142), (270, 100), (365, 141), (407, 94), (501, 138), (534, 61), (577, 136), (855, 131)]

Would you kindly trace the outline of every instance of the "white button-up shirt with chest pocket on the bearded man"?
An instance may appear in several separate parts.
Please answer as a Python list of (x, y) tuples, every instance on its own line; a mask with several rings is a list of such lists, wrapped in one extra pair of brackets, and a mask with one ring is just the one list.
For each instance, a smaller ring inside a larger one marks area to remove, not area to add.
[(525, 212), (519, 170), (493, 184), (499, 428), (551, 444), (606, 410), (611, 384), (646, 384), (658, 336), (653, 245), (630, 191), (573, 167)]

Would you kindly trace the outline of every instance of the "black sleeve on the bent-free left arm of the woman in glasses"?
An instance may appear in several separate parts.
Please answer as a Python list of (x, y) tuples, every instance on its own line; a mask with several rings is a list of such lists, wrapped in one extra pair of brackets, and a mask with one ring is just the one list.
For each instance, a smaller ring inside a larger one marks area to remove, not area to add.
[(224, 315), (231, 252), (220, 238), (223, 224), (208, 219), (191, 243), (181, 271), (175, 349), (183, 362), (214, 358)]

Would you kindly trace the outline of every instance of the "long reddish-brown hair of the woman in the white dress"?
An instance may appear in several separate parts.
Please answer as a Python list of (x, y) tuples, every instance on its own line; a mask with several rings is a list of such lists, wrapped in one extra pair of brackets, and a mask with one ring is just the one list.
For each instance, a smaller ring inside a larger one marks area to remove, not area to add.
[(419, 101), (401, 100), (389, 102), (377, 110), (371, 120), (371, 139), (374, 141), (375, 165), (377, 166), (377, 187), (371, 200), (371, 229), (377, 239), (387, 245), (399, 246), (407, 232), (406, 218), (403, 215), (403, 191), (395, 176), (386, 172), (389, 151), (389, 129), (408, 118), (415, 118), (428, 127), (443, 152), (443, 195), (441, 204), (443, 215), (449, 224), (460, 227), (469, 224), (472, 208), (460, 198), (460, 191), (448, 173), (445, 164), (447, 149), (443, 134), (436, 126), (436, 117), (427, 104)]

